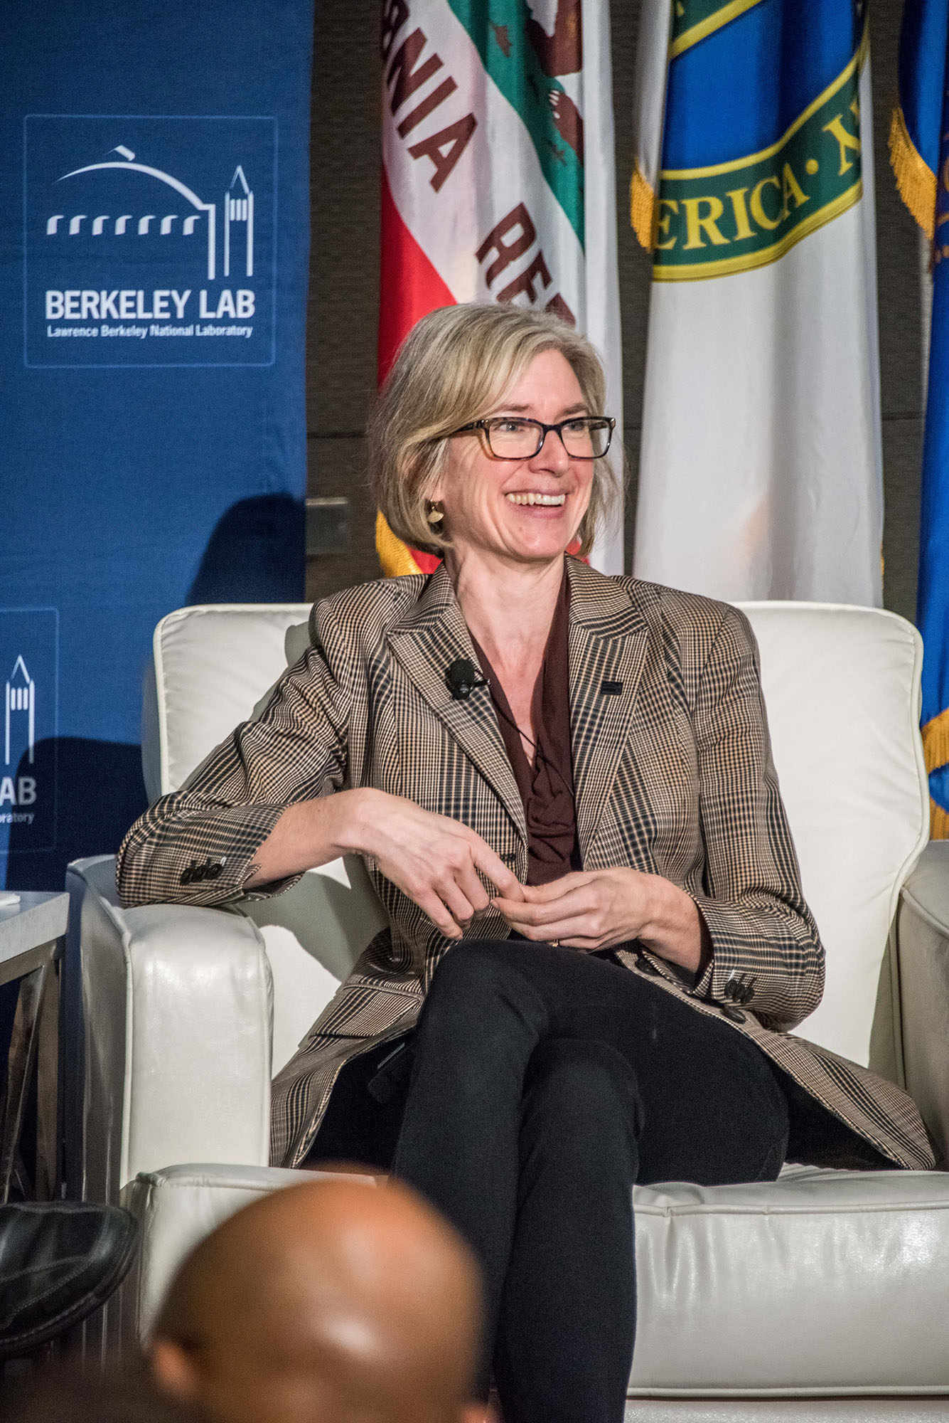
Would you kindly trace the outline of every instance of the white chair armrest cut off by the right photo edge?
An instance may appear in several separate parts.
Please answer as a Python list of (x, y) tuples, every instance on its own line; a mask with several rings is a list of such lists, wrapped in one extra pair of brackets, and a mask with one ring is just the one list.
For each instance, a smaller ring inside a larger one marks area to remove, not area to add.
[(933, 840), (896, 911), (899, 1017), (906, 1091), (949, 1161), (949, 841)]

